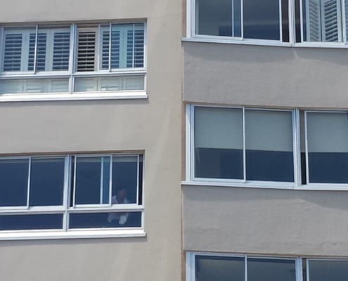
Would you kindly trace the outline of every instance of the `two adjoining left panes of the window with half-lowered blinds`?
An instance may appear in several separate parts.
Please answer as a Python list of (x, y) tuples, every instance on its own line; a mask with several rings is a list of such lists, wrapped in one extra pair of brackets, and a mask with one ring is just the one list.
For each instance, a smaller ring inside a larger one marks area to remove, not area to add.
[(195, 107), (195, 178), (294, 181), (292, 112)]

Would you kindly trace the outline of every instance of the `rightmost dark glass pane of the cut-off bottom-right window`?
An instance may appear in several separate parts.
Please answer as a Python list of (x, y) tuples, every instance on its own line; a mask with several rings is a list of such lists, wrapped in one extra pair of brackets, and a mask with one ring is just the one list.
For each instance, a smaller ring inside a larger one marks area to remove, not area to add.
[(310, 281), (346, 281), (348, 261), (309, 261)]

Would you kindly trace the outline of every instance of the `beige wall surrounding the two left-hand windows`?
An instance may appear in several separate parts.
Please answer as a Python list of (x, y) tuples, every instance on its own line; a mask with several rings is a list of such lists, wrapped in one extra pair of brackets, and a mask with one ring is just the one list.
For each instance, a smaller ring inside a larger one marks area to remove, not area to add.
[(182, 3), (13, 0), (0, 22), (145, 19), (148, 100), (0, 103), (0, 155), (145, 151), (146, 238), (0, 241), (1, 279), (181, 278)]

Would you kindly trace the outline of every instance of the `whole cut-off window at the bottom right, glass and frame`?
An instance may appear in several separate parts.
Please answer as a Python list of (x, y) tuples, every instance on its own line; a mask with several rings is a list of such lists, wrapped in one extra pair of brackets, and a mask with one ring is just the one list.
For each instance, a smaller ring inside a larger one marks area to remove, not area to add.
[(188, 281), (344, 281), (347, 259), (229, 254), (186, 255)]

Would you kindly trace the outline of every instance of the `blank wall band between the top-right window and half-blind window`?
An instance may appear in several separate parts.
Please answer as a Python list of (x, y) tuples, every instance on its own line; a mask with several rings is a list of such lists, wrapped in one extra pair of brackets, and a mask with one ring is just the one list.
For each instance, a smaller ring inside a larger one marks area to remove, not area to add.
[(186, 102), (348, 107), (347, 49), (184, 42), (183, 52)]

